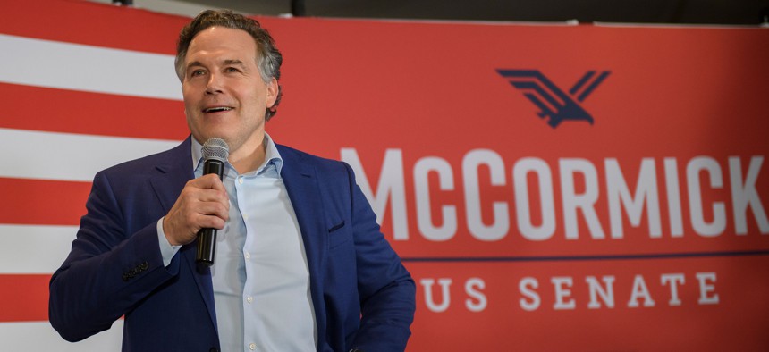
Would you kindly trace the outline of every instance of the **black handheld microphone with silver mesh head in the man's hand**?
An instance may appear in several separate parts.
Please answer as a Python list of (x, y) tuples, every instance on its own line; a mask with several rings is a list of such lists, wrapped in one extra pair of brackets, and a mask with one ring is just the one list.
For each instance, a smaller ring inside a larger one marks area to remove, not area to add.
[[(203, 143), (203, 174), (215, 173), (219, 180), (224, 178), (224, 163), (230, 155), (230, 147), (222, 138), (210, 138)], [(198, 231), (198, 255), (195, 262), (211, 266), (214, 264), (216, 249), (216, 229), (200, 229)]]

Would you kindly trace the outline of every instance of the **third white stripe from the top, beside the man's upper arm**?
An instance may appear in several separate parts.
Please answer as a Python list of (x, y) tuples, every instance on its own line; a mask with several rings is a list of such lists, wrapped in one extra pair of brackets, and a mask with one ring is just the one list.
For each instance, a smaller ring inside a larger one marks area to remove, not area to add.
[(77, 231), (77, 226), (0, 224), (0, 274), (55, 272)]

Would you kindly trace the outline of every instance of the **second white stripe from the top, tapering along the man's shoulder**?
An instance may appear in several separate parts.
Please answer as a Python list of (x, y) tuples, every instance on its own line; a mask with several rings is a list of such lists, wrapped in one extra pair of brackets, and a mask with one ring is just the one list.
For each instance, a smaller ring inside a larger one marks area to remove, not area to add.
[(179, 141), (0, 129), (0, 177), (91, 181), (116, 163), (155, 154)]

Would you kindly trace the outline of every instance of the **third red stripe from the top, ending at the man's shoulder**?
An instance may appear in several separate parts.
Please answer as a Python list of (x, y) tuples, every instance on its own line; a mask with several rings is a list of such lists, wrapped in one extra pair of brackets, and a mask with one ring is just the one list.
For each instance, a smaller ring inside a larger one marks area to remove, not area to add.
[(90, 182), (0, 178), (5, 199), (0, 202), (0, 223), (77, 225), (86, 213), (90, 186)]

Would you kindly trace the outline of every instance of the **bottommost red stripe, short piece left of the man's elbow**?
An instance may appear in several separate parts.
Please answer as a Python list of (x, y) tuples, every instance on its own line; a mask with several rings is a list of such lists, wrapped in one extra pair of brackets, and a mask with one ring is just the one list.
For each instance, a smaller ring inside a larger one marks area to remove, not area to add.
[(50, 274), (0, 275), (0, 323), (48, 320)]

